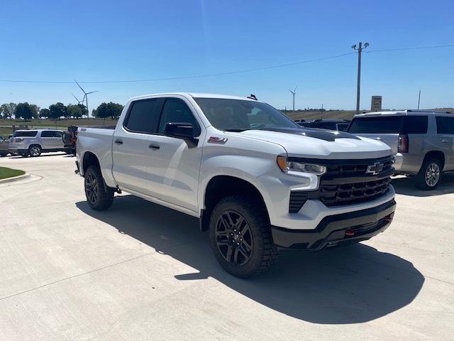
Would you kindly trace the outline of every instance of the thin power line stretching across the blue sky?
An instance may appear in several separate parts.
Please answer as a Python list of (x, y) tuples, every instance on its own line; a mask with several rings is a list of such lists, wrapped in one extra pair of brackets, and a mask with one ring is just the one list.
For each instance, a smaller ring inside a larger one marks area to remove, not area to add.
[[(369, 51), (365, 51), (364, 53), (390, 52), (390, 51), (400, 51), (400, 50), (430, 50), (430, 49), (434, 49), (434, 48), (452, 48), (452, 47), (454, 47), (454, 44), (416, 46), (416, 47), (409, 47), (409, 48), (387, 48), (387, 49), (383, 49), (383, 50), (369, 50)], [(159, 82), (162, 80), (189, 80), (189, 79), (195, 79), (195, 78), (236, 75), (239, 73), (277, 69), (280, 67), (289, 67), (289, 66), (294, 66), (294, 65), (319, 62), (321, 60), (330, 60), (330, 59), (335, 59), (335, 58), (341, 58), (341, 57), (344, 57), (345, 55), (354, 55), (354, 54), (355, 54), (355, 52), (341, 53), (340, 55), (331, 55), (329, 57), (301, 60), (299, 62), (294, 62), (294, 63), (270, 65), (270, 66), (265, 66), (265, 67), (255, 67), (252, 69), (244, 69), (244, 70), (236, 70), (236, 71), (208, 73), (208, 74), (202, 74), (202, 75), (150, 78), (150, 79), (144, 79), (144, 80), (94, 80), (94, 81), (86, 81), (86, 82), (79, 82), (79, 83), (81, 83), (81, 84), (109, 84), (109, 83), (114, 84), (114, 83), (136, 83), (136, 82)], [(57, 80), (0, 80), (0, 82), (33, 83), (33, 84), (74, 84), (74, 81), (57, 81)]]

